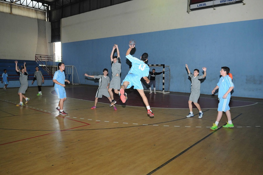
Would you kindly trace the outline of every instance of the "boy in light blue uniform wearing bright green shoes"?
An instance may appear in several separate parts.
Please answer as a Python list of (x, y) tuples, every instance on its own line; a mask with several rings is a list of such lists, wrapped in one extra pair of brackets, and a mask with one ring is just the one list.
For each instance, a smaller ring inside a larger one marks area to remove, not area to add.
[(234, 127), (232, 120), (231, 120), (231, 113), (229, 111), (230, 110), (229, 101), (231, 98), (230, 92), (233, 90), (234, 84), (232, 83), (232, 80), (228, 75), (229, 71), (230, 69), (228, 67), (221, 67), (220, 75), (222, 75), (222, 77), (219, 79), (217, 86), (212, 90), (212, 94), (214, 94), (214, 91), (216, 89), (219, 89), (218, 90), (219, 104), (218, 104), (218, 109), (217, 109), (218, 111), (217, 120), (215, 121), (215, 123), (213, 123), (213, 126), (210, 128), (210, 130), (217, 129), (217, 125), (222, 118), (223, 111), (226, 113), (226, 117), (228, 120), (227, 124), (223, 125), (223, 127), (224, 128)]

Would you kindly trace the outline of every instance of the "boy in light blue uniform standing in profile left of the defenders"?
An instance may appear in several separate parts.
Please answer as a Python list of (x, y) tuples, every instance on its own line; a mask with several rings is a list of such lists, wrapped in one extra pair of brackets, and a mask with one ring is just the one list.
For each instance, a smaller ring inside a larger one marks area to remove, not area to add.
[(65, 113), (65, 111), (63, 111), (63, 105), (64, 105), (64, 101), (67, 99), (66, 96), (66, 91), (65, 91), (65, 81), (67, 81), (68, 83), (70, 83), (70, 81), (65, 79), (65, 73), (63, 72), (63, 70), (65, 69), (65, 64), (64, 63), (58, 63), (58, 69), (53, 77), (53, 82), (55, 83), (55, 91), (58, 94), (58, 98), (59, 103), (58, 103), (58, 107), (56, 108), (56, 110), (59, 111), (58, 114), (61, 115), (68, 115), (68, 113)]

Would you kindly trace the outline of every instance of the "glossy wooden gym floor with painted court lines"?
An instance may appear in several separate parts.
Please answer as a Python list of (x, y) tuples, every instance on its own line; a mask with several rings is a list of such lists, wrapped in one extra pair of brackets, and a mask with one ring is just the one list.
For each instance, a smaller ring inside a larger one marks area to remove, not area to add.
[[(94, 106), (98, 86), (66, 85), (64, 111), (53, 86), (0, 89), (0, 174), (262, 174), (263, 99), (233, 97), (234, 128), (212, 131), (217, 96), (201, 95), (204, 112), (189, 113), (188, 93), (148, 94), (150, 118), (137, 91), (128, 101), (107, 98)], [(234, 96), (234, 94), (233, 94)]]

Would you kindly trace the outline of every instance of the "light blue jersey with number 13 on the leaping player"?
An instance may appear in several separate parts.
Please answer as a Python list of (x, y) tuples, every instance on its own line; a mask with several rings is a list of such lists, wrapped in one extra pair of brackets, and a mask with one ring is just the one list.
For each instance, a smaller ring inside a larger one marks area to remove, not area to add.
[(126, 56), (131, 62), (131, 69), (128, 74), (135, 74), (140, 77), (148, 77), (149, 75), (149, 66), (145, 64), (142, 60), (131, 56), (130, 54)]

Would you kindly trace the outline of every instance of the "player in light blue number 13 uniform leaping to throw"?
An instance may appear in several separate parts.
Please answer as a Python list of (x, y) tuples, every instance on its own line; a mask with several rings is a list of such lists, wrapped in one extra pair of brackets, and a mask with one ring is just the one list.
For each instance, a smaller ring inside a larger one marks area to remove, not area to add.
[(122, 86), (120, 87), (120, 99), (123, 103), (126, 102), (127, 95), (124, 93), (124, 90), (126, 88), (130, 88), (131, 86), (134, 86), (134, 89), (137, 89), (139, 94), (141, 95), (144, 104), (147, 108), (147, 114), (150, 115), (150, 117), (153, 117), (154, 114), (150, 108), (150, 105), (148, 103), (148, 99), (144, 94), (143, 86), (141, 84), (141, 77), (146, 81), (147, 84), (149, 84), (150, 80), (148, 79), (149, 75), (149, 66), (145, 64), (145, 62), (148, 60), (148, 54), (143, 53), (141, 56), (141, 60), (138, 58), (135, 58), (130, 55), (131, 49), (133, 49), (135, 45), (129, 45), (129, 49), (126, 52), (126, 58), (130, 60), (132, 66), (124, 80), (122, 81)]

